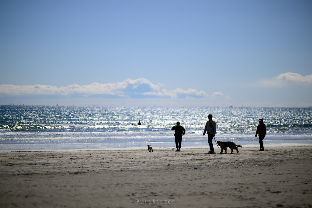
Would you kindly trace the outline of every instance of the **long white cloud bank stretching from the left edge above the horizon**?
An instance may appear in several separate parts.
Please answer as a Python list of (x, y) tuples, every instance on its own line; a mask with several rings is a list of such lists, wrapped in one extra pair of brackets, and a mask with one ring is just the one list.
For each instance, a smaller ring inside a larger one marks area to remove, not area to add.
[(140, 78), (128, 79), (123, 82), (90, 85), (68, 85), (56, 87), (50, 85), (0, 85), (0, 96), (74, 96), (74, 97), (124, 97), (124, 98), (202, 98), (207, 94), (197, 89), (169, 90), (158, 83)]

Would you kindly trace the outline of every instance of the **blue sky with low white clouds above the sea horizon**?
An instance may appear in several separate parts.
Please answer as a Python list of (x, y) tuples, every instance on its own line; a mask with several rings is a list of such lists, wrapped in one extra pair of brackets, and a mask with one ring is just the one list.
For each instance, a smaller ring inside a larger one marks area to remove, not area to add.
[(0, 1), (0, 104), (312, 106), (312, 1)]

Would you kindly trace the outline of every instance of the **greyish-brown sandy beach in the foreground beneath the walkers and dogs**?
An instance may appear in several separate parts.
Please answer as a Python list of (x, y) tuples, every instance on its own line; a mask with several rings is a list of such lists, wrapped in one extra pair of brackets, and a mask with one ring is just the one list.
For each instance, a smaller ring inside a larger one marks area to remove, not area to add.
[(311, 147), (181, 151), (0, 152), (0, 207), (312, 207)]

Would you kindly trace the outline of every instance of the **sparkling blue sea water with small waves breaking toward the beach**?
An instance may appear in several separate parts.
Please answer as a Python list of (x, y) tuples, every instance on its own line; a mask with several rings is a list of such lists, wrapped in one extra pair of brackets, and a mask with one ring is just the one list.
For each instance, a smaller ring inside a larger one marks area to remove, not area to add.
[(208, 114), (217, 123), (216, 140), (258, 147), (262, 118), (265, 147), (312, 146), (312, 108), (2, 105), (0, 150), (174, 149), (177, 121), (186, 129), (182, 149), (208, 148)]

